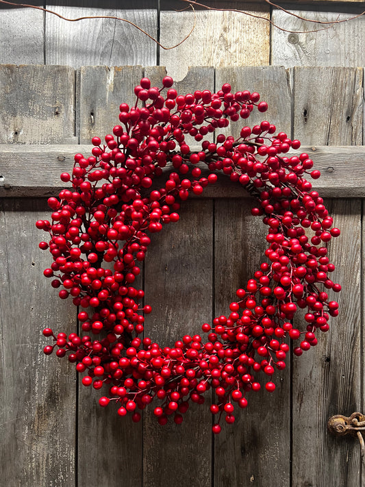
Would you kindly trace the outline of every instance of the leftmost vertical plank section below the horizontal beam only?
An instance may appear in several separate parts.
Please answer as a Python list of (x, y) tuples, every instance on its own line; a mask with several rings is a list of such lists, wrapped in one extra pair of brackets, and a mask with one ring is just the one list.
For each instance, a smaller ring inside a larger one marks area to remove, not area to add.
[(49, 211), (36, 199), (0, 203), (0, 460), (8, 486), (75, 485), (75, 369), (42, 353), (52, 343), (44, 327), (75, 327), (74, 309), (43, 276), (52, 259), (38, 248), (45, 235), (35, 222)]

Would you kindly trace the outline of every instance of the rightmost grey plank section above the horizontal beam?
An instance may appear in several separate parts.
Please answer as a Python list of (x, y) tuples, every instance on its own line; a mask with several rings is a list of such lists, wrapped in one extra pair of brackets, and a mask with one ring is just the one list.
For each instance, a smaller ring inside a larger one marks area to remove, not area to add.
[(303, 145), (361, 145), (362, 79), (360, 68), (294, 68), (295, 138)]

